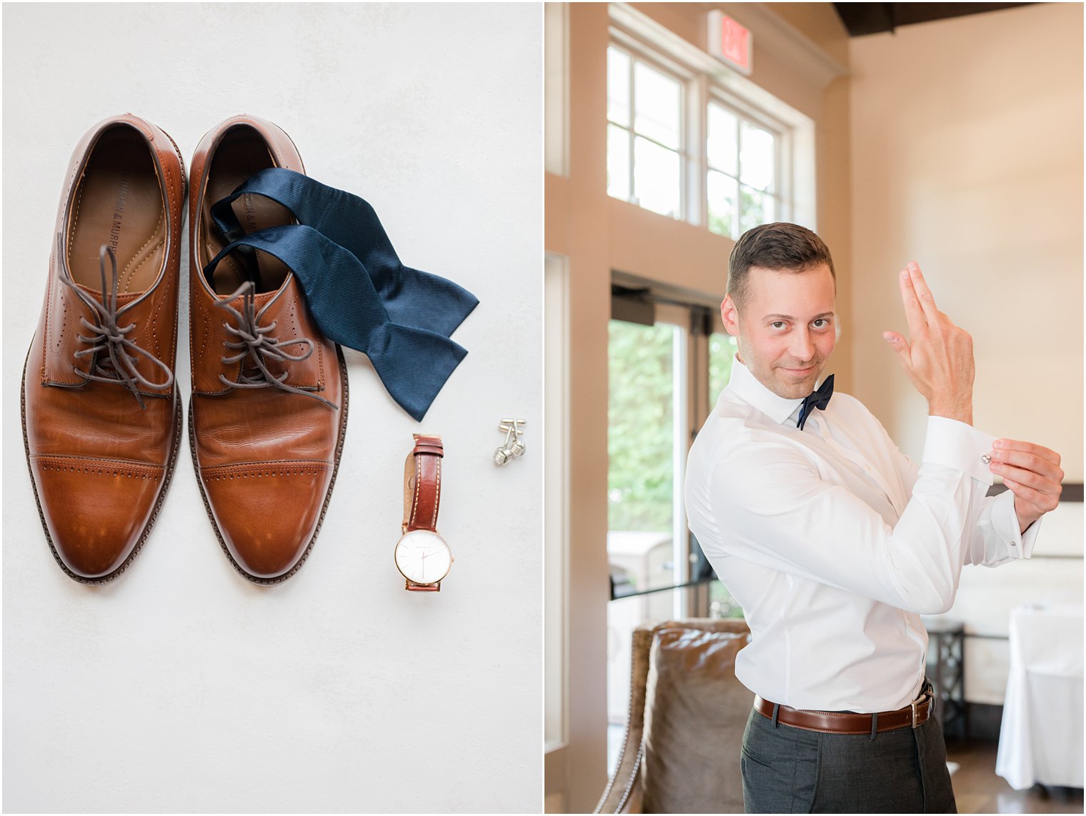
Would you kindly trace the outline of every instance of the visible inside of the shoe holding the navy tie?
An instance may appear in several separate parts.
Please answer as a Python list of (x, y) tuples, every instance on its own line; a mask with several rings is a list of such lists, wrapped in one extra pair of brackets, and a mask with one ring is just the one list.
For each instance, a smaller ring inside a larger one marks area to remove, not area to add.
[[(237, 189), (238, 185), (254, 173), (274, 167), (264, 139), (253, 128), (244, 125), (232, 128), (223, 138), (212, 159), (207, 173), (207, 190), (203, 199), (203, 234), (206, 261), (218, 254), (227, 241), (211, 217), (211, 206)], [(267, 227), (293, 224), (290, 210), (263, 196), (240, 196), (231, 204), (241, 229), (248, 235)], [(256, 293), (272, 292), (282, 286), (290, 268), (278, 258), (260, 250), (243, 249), (231, 252), (219, 261), (212, 273), (211, 286), (216, 294), (230, 294), (245, 280), (252, 280)]]

